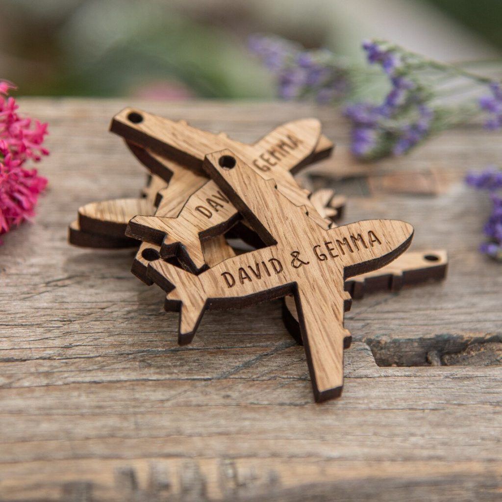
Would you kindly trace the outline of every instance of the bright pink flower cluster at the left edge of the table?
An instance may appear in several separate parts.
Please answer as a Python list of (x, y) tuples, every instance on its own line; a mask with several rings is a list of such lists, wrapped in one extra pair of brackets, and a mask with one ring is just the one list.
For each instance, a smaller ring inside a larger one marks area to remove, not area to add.
[(29, 159), (38, 162), (49, 154), (42, 147), (47, 124), (19, 116), (10, 89), (15, 86), (0, 81), (0, 235), (34, 215), (38, 195), (47, 185), (36, 169), (23, 167)]

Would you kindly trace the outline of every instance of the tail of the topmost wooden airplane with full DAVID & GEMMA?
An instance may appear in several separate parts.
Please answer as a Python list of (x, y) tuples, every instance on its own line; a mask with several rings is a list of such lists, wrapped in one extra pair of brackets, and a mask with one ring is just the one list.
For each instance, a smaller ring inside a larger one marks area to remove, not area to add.
[(167, 292), (166, 310), (180, 311), (178, 342), (190, 343), (207, 300), (200, 278), (162, 260), (149, 264), (148, 275)]

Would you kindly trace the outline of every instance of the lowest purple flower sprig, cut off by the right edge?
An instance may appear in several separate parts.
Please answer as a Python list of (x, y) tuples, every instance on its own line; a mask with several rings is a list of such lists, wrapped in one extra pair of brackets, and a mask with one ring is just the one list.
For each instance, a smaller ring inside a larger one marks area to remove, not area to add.
[(496, 193), (502, 189), (502, 170), (489, 166), (480, 173), (468, 173), (465, 181), (472, 187), (490, 192), (493, 205), (491, 214), (483, 227), (489, 240), (481, 244), (479, 250), (494, 260), (502, 262), (502, 197)]

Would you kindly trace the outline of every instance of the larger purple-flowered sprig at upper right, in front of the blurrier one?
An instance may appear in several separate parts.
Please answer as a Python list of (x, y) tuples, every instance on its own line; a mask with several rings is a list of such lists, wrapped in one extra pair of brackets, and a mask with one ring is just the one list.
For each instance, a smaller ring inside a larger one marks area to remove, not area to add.
[[(451, 65), (429, 60), (384, 41), (362, 44), (369, 64), (380, 65), (390, 90), (380, 104), (358, 102), (345, 108), (352, 121), (352, 153), (365, 160), (388, 155), (403, 155), (433, 134), (465, 122), (478, 113), (472, 104), (446, 106), (439, 99), (435, 83), (458, 78), (486, 83), (478, 77)], [(449, 97), (452, 92), (450, 89)]]

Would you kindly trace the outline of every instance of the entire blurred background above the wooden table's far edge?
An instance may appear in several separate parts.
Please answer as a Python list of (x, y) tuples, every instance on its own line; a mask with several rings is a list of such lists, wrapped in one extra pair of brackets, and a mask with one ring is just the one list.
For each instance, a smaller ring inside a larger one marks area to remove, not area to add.
[(498, 58), (496, 0), (2, 0), (0, 77), (19, 94), (272, 98), (254, 33), (363, 60), (379, 37), (445, 61)]

